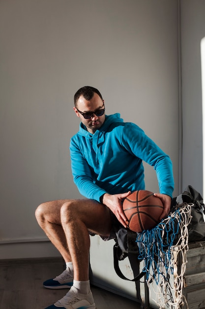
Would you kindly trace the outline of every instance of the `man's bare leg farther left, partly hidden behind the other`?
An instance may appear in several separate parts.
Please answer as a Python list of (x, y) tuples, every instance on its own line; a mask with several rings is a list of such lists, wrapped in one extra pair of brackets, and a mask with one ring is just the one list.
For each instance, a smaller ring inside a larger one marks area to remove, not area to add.
[(67, 202), (66, 199), (45, 202), (38, 206), (35, 211), (36, 220), (39, 226), (46, 233), (48, 238), (59, 250), (65, 262), (71, 262), (70, 253), (67, 247), (65, 233), (61, 226), (60, 209)]

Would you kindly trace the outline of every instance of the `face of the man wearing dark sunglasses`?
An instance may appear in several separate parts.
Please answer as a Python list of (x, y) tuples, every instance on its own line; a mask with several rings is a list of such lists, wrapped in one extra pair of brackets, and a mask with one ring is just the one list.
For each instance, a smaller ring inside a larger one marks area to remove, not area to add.
[(102, 116), (96, 116), (93, 114), (90, 119), (85, 119), (84, 116), (78, 112), (79, 110), (82, 113), (94, 113), (104, 109), (104, 101), (97, 93), (94, 93), (92, 99), (89, 101), (87, 101), (83, 96), (80, 96), (77, 102), (77, 108), (74, 107), (73, 109), (76, 115), (80, 117), (81, 122), (87, 127), (88, 132), (92, 134), (94, 134), (105, 121), (105, 113)]

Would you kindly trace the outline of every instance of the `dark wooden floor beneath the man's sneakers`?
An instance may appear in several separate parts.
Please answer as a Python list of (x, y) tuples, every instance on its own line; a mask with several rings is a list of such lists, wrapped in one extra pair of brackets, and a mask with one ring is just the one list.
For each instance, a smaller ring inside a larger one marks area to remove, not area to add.
[[(60, 274), (61, 259), (1, 260), (0, 309), (45, 309), (62, 298), (66, 289), (45, 289), (42, 282)], [(140, 309), (127, 298), (91, 286), (97, 309)]]

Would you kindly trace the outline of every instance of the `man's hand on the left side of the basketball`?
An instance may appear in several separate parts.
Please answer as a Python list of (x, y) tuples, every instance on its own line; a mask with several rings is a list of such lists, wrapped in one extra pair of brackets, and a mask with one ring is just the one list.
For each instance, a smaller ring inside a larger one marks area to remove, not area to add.
[(117, 217), (117, 220), (127, 228), (127, 218), (122, 209), (122, 200), (127, 197), (131, 192), (121, 193), (121, 194), (109, 194), (105, 193), (103, 195), (102, 202), (106, 205)]

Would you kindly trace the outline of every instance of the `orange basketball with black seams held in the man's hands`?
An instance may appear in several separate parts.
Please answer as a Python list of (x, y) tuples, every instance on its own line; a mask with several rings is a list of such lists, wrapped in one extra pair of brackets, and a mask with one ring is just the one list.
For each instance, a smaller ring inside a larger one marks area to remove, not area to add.
[(146, 190), (131, 193), (124, 199), (122, 207), (128, 220), (128, 228), (138, 233), (156, 227), (163, 211), (161, 199)]

